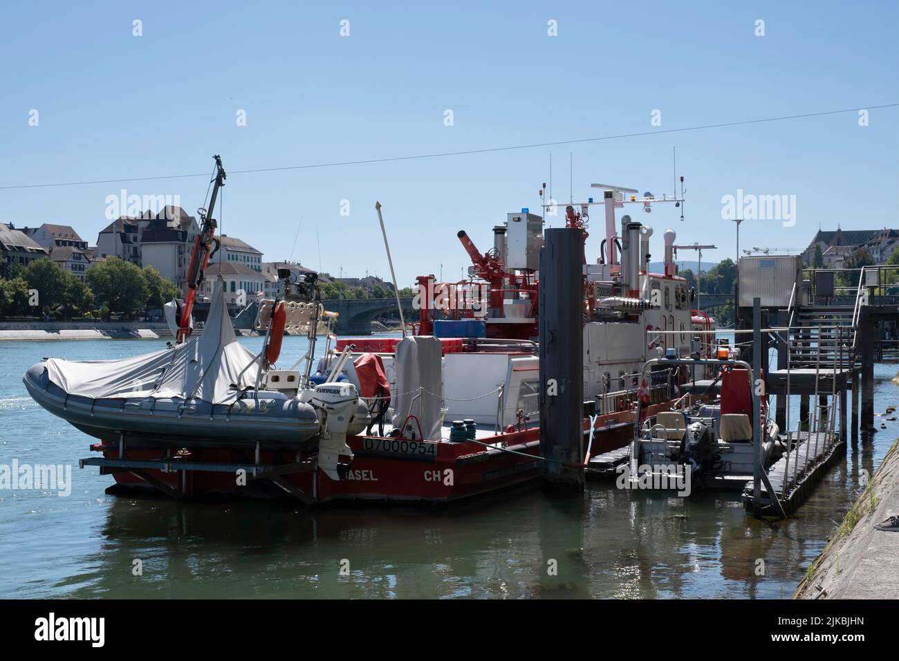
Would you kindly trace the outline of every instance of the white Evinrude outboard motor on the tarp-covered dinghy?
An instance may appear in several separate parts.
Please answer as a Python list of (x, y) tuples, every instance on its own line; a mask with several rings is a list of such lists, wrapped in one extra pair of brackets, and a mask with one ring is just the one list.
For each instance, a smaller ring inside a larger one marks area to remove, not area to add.
[(318, 437), (318, 468), (334, 480), (346, 475), (352, 462), (352, 450), (346, 444), (346, 433), (356, 408), (359, 395), (349, 382), (322, 383), (315, 388), (310, 404), (316, 407), (322, 423)]

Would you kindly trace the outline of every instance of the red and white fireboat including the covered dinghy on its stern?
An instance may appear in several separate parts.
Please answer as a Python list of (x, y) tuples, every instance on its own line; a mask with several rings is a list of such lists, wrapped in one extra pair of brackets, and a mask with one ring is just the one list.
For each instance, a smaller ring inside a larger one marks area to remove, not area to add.
[[(213, 203), (224, 184), (217, 164)], [(707, 357), (715, 344), (714, 319), (690, 308), (687, 281), (676, 273), (673, 230), (664, 233), (663, 273), (648, 271), (652, 228), (625, 215), (616, 231), (616, 209), (628, 203), (649, 208), (680, 201), (648, 193), (626, 200), (628, 189), (594, 185), (601, 201), (565, 209), (566, 226), (580, 228), (584, 238), (583, 391), (592, 414), (583, 422), (585, 468), (591, 454), (628, 443), (638, 400), (642, 415), (655, 415), (674, 406), (679, 385), (697, 378), (663, 369), (645, 379), (653, 352)], [(592, 205), (603, 205), (606, 219), (595, 264), (585, 257)], [(84, 363), (51, 359), (26, 372), (32, 397), (100, 439), (92, 450), (101, 456), (82, 460), (82, 467), (111, 474), (111, 488), (175, 497), (287, 494), (308, 505), (449, 503), (538, 477), (538, 262), (545, 217), (527, 209), (508, 214), (484, 254), (458, 232), (473, 262), (471, 277), (449, 283), (420, 277), (411, 335), (341, 338), (332, 347), (329, 334), (325, 357), (316, 362), (319, 322), (327, 313), (315, 278), (297, 281), (289, 270), (279, 273), (282, 294), (259, 307), (265, 341), (258, 355), (236, 345), (227, 313), (191, 338), (193, 294), (215, 242), (211, 206), (202, 214), (188, 295), (172, 306), (178, 344), (171, 359), (165, 352), (128, 359), (129, 371), (146, 385), (125, 389), (112, 364), (103, 368), (109, 379), (102, 387), (79, 380)], [(307, 334), (309, 349), (280, 369), (285, 329)], [(82, 381), (88, 386), (81, 392), (65, 387)]]

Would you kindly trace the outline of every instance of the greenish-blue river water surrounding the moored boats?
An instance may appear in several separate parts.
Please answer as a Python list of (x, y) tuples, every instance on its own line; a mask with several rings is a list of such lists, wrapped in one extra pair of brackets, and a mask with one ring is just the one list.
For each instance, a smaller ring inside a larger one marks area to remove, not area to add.
[[(258, 351), (262, 339), (241, 342)], [(282, 360), (305, 343), (285, 338)], [(0, 342), (0, 464), (70, 465), (73, 479), (69, 496), (0, 490), (0, 597), (787, 598), (858, 493), (861, 469), (877, 469), (899, 436), (899, 423), (877, 417), (887, 428), (850, 443), (781, 523), (754, 520), (738, 498), (599, 483), (583, 496), (529, 488), (443, 509), (106, 496), (111, 478), (77, 468), (93, 439), (35, 404), (22, 372), (42, 356), (164, 345)], [(876, 366), (877, 413), (899, 404), (896, 369)]]

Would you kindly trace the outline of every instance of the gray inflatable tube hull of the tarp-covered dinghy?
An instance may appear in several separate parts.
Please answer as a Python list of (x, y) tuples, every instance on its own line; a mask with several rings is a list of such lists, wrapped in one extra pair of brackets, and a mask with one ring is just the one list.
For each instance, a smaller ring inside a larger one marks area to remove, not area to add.
[[(40, 406), (96, 438), (111, 441), (119, 433), (141, 437), (223, 439), (236, 442), (275, 442), (301, 446), (319, 432), (316, 410), (296, 397), (260, 391), (234, 404), (210, 404), (199, 399), (83, 397), (67, 393), (49, 380), (44, 362), (22, 377), (25, 388)], [(369, 421), (360, 400), (350, 433), (359, 433)]]

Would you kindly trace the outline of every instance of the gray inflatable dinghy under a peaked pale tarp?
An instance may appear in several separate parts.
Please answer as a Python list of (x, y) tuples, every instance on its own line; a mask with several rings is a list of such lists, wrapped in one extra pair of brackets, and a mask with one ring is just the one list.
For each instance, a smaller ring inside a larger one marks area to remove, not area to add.
[[(40, 406), (106, 441), (121, 433), (165, 444), (317, 441), (323, 406), (315, 392), (257, 389), (259, 360), (236, 341), (218, 283), (200, 337), (119, 360), (46, 358), (22, 381)], [(360, 433), (369, 408), (358, 399), (350, 410), (347, 433)]]

